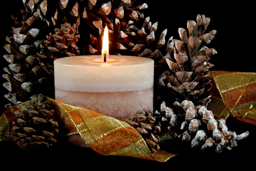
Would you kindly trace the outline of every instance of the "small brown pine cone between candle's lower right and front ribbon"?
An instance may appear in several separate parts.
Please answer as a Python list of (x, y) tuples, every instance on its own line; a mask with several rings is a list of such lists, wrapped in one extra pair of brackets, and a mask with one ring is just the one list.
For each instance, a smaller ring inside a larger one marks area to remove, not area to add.
[(159, 126), (154, 125), (155, 118), (149, 110), (139, 110), (135, 116), (131, 116), (125, 122), (137, 129), (152, 154), (160, 149), (158, 145), (160, 140), (158, 134), (161, 130)]

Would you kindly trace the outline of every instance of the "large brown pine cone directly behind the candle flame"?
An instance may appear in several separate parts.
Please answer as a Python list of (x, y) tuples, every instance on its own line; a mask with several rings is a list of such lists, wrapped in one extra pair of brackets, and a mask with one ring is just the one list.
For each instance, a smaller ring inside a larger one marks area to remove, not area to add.
[[(110, 54), (138, 56), (144, 49), (148, 48), (146, 37), (151, 32), (153, 32), (152, 34), (154, 35), (154, 31), (157, 29), (157, 23), (151, 28), (149, 17), (147, 17), (143, 23), (142, 19), (144, 19), (144, 14), (141, 11), (148, 8), (146, 3), (136, 3), (136, 0), (113, 0), (108, 3), (103, 3), (101, 6), (99, 5), (101, 4), (99, 3), (98, 7), (96, 7), (96, 3), (95, 6), (96, 9), (99, 9), (99, 12), (92, 13), (91, 11), (93, 11), (93, 9), (86, 9), (83, 13), (87, 24), (98, 31), (91, 32), (91, 42), (89, 45), (90, 54), (101, 54), (102, 47), (99, 46), (99, 44), (102, 44), (104, 32), (102, 25), (108, 26)], [(143, 28), (138, 29), (138, 27), (134, 25), (135, 22), (143, 24)], [(153, 41), (154, 40), (152, 40), (152, 42)], [(149, 49), (150, 53), (152, 53), (151, 51), (154, 52), (155, 49), (156, 47)]]

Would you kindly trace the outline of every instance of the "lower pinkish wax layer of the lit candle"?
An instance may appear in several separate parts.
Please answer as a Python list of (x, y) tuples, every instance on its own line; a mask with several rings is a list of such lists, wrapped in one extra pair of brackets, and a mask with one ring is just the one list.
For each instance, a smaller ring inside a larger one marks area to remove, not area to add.
[(124, 121), (144, 108), (153, 112), (153, 87), (139, 91), (107, 93), (68, 91), (55, 87), (55, 100)]

